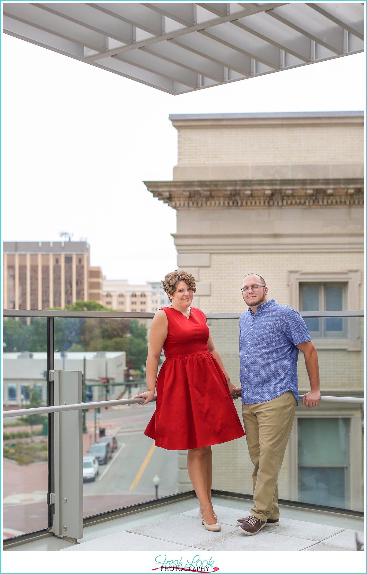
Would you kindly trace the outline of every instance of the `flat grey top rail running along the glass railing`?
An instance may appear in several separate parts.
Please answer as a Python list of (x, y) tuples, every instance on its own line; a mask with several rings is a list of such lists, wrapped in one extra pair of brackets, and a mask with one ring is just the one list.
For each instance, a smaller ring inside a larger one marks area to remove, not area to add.
[[(74, 317), (89, 319), (153, 319), (155, 313), (126, 311), (29, 311), (26, 309), (4, 309), (4, 317)], [(239, 319), (242, 313), (206, 313), (207, 319)], [(300, 311), (302, 317), (364, 317), (364, 311)]]

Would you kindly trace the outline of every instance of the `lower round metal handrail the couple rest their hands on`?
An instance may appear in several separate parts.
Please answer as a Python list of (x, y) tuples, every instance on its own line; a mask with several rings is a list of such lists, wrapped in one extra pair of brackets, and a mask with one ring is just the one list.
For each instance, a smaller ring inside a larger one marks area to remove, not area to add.
[[(298, 399), (302, 402), (303, 395), (298, 395)], [(365, 400), (361, 397), (320, 397), (320, 400), (325, 402), (354, 402), (364, 404)], [(17, 409), (17, 410), (4, 410), (3, 418), (11, 417), (26, 417), (29, 414), (46, 414), (46, 413), (60, 413), (65, 410), (82, 410), (82, 409), (97, 409), (101, 406), (117, 406), (117, 405), (136, 405), (142, 404), (145, 399), (143, 398), (126, 398), (116, 399), (112, 401), (97, 401), (97, 402), (79, 402), (75, 405), (56, 405), (56, 406), (38, 406), (36, 409)], [(157, 397), (153, 397), (150, 402), (157, 401)]]

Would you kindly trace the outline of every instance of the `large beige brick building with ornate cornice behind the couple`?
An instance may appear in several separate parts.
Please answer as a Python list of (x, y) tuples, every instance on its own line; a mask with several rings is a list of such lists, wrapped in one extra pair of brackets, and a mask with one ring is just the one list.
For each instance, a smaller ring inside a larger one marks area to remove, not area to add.
[[(241, 281), (256, 272), (265, 278), (270, 298), (299, 311), (363, 309), (362, 112), (170, 119), (178, 131), (173, 181), (146, 185), (177, 210), (177, 262), (196, 277), (194, 305), (206, 313), (245, 311)], [(238, 320), (208, 323), (232, 381), (239, 383)], [(322, 394), (362, 395), (362, 320), (306, 324), (318, 349)], [(307, 387), (301, 356), (300, 393)], [(236, 406), (240, 410), (240, 401)], [(251, 493), (245, 440), (217, 445), (213, 452), (213, 487)], [(188, 486), (184, 458), (179, 456), (181, 490)], [(362, 509), (358, 405), (324, 402), (317, 411), (296, 409), (279, 488), (281, 498), (312, 495), (316, 503)]]

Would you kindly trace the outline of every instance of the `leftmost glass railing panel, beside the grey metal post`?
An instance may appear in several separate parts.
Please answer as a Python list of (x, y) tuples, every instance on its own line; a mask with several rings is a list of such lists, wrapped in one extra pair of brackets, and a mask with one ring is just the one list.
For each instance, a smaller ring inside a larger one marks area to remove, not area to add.
[[(46, 319), (3, 321), (3, 409), (47, 404)], [(48, 528), (47, 416), (3, 424), (3, 536)]]

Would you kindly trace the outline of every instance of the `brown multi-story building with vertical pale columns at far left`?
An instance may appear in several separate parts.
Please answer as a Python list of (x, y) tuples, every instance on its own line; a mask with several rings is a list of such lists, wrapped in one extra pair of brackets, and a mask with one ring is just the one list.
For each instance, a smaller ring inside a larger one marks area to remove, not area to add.
[(86, 241), (5, 241), (4, 309), (48, 309), (102, 302), (100, 267), (89, 267)]

